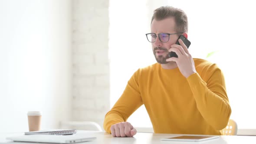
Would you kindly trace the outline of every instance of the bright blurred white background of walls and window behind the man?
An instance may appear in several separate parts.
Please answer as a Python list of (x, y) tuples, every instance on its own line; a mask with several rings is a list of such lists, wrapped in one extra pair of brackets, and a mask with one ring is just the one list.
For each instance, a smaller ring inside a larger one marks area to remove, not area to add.
[[(223, 70), (239, 129), (256, 129), (250, 0), (0, 0), (0, 132), (28, 131), (27, 111), (42, 111), (42, 129), (104, 116), (138, 69), (155, 63), (153, 10), (187, 13), (189, 51)], [(152, 128), (141, 106), (128, 119)]]

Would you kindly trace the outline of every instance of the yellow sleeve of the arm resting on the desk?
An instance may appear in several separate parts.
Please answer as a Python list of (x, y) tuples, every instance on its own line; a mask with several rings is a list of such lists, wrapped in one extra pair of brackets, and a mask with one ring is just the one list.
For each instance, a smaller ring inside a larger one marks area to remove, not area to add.
[(121, 97), (105, 115), (103, 127), (106, 132), (111, 133), (110, 128), (113, 124), (127, 121), (129, 116), (143, 104), (138, 85), (139, 71), (132, 75)]

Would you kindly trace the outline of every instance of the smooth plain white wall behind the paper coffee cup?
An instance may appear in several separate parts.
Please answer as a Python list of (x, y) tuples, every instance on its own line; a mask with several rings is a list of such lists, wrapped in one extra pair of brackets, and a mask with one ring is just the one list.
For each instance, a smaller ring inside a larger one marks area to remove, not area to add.
[(0, 132), (42, 128), (71, 116), (71, 0), (0, 1)]

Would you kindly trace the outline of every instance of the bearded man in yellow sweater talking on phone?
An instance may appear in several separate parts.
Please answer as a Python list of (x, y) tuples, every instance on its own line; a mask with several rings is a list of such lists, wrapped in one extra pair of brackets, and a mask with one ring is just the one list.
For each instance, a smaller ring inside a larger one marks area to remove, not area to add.
[[(131, 137), (128, 117), (145, 105), (155, 133), (220, 135), (231, 108), (223, 73), (216, 64), (193, 59), (180, 35), (187, 38), (187, 16), (174, 7), (154, 10), (151, 33), (158, 63), (138, 69), (111, 111), (104, 129), (114, 137)], [(175, 44), (176, 42), (180, 45)], [(176, 57), (169, 57), (175, 52)]]

